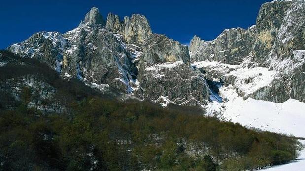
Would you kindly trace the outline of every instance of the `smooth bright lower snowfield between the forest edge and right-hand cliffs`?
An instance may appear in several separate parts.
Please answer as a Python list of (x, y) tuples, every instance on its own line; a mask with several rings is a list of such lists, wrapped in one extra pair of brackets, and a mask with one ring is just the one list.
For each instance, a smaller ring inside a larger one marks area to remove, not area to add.
[(226, 93), (230, 99), (225, 103), (210, 103), (207, 108), (209, 114), (216, 111), (224, 120), (261, 130), (305, 137), (305, 103), (294, 99), (283, 103), (252, 98), (243, 100), (232, 89), (221, 88), (220, 91)]

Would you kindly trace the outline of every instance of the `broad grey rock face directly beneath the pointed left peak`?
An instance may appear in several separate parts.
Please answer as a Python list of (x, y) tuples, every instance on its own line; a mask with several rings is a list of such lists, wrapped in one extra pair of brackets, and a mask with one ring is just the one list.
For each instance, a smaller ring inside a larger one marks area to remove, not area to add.
[(104, 29), (81, 30), (78, 36), (76, 50), (64, 56), (64, 72), (130, 93), (137, 68), (122, 41)]

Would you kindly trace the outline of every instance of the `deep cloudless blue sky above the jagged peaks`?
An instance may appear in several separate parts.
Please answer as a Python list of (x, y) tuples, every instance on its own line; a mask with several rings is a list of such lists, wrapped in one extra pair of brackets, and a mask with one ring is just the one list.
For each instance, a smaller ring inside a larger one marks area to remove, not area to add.
[(93, 6), (105, 19), (109, 12), (121, 18), (145, 15), (154, 33), (183, 44), (194, 35), (211, 40), (226, 28), (254, 25), (267, 1), (271, 0), (2, 0), (0, 49), (38, 31), (71, 30)]

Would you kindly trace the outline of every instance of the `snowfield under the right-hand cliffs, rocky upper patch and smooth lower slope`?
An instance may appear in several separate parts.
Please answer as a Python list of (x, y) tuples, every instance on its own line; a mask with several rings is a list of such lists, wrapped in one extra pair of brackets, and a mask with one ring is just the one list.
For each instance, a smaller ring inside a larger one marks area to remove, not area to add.
[[(220, 78), (223, 84), (219, 96), (223, 102), (213, 101), (206, 107), (208, 115), (217, 114), (220, 119), (230, 120), (248, 127), (271, 132), (305, 137), (305, 103), (288, 99), (282, 103), (256, 100), (263, 97), (261, 90), (274, 86), (276, 72), (267, 68), (244, 68), (215, 61), (193, 63), (196, 70), (204, 70), (204, 77)], [(223, 69), (222, 69), (223, 68)]]

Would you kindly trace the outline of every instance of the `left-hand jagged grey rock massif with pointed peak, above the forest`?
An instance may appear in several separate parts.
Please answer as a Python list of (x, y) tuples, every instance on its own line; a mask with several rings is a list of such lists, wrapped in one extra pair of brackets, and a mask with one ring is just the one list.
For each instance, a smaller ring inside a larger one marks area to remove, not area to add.
[(93, 7), (67, 33), (39, 32), (8, 49), (100, 89), (109, 85), (158, 102), (202, 105), (209, 101), (209, 88), (192, 69), (188, 47), (153, 34), (142, 15), (121, 21), (109, 13), (105, 21)]

